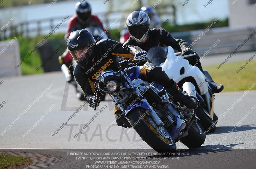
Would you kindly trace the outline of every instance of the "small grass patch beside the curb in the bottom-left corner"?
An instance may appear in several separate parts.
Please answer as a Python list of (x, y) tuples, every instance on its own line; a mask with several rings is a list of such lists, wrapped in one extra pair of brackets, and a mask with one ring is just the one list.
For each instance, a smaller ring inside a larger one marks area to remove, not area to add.
[(30, 160), (25, 157), (9, 156), (9, 155), (5, 155), (3, 153), (0, 154), (0, 168), (8, 168), (11, 166), (17, 166), (22, 162), (29, 162), (29, 161)]

